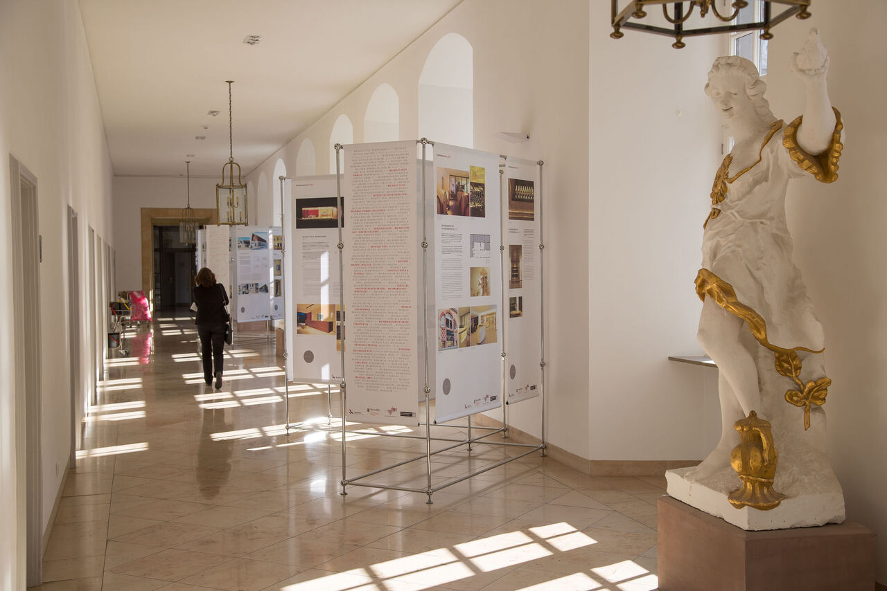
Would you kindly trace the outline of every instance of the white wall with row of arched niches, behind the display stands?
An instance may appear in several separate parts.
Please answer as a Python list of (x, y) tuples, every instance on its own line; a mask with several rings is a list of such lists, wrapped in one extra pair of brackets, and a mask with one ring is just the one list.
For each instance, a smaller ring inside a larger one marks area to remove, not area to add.
[[(315, 146), (317, 170), (329, 170), (326, 146), (334, 121), (348, 115), (354, 141), (363, 142), (366, 106), (382, 82), (399, 97), (400, 137), (418, 138), (422, 66), (443, 35), (464, 35), (474, 52), (475, 148), (546, 161), (550, 439), (577, 455), (588, 449), (588, 309), (582, 303), (588, 293), (587, 23), (584, 0), (466, 0), (247, 176), (271, 175), (278, 158), (295, 170), (306, 138)], [(508, 144), (494, 137), (514, 130), (530, 133), (530, 141)], [(538, 411), (538, 399), (514, 405), (509, 421), (539, 435)]]

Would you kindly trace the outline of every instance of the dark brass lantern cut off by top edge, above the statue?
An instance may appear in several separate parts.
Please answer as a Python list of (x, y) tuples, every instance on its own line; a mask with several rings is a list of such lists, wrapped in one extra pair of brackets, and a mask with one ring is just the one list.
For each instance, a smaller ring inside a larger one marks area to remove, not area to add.
[[(689, 0), (688, 5), (686, 6), (684, 4), (685, 1), (686, 0), (632, 0), (625, 5), (622, 11), (620, 11), (618, 0), (611, 0), (610, 18), (612, 21), (613, 32), (610, 33), (610, 36), (614, 39), (621, 39), (625, 35), (621, 30), (623, 28), (638, 29), (655, 35), (673, 36), (675, 42), (671, 43), (671, 47), (679, 50), (687, 45), (687, 43), (682, 41), (684, 37), (692, 37), (695, 35), (716, 35), (718, 33), (730, 33), (734, 31), (753, 31), (760, 29), (763, 31), (763, 33), (761, 33), (761, 39), (767, 41), (773, 39), (770, 27), (778, 25), (783, 20), (789, 19), (789, 17), (792, 16), (797, 19), (809, 19), (811, 16), (808, 10), (810, 8), (811, 0), (763, 0), (764, 6), (761, 11), (762, 19), (757, 22), (742, 22), (741, 24), (740, 21), (743, 19), (736, 19), (736, 17), (740, 16), (740, 11), (742, 11), (743, 8), (749, 6), (747, 0), (734, 0), (732, 4), (733, 12), (730, 14), (721, 14), (718, 11), (716, 0)], [(633, 22), (631, 20), (643, 19), (647, 16), (647, 12), (644, 8), (654, 6), (655, 4), (662, 5), (663, 17), (671, 23), (671, 28), (642, 25), (639, 22)], [(669, 13), (668, 4), (671, 4), (671, 14)], [(779, 9), (777, 8), (774, 10), (773, 4), (789, 4), (789, 7), (784, 11), (775, 14)], [(699, 17), (701, 19), (704, 19), (708, 12), (711, 11), (718, 20), (727, 24), (719, 25), (717, 27), (684, 28), (684, 23), (686, 23), (687, 19), (693, 15), (693, 9), (696, 7), (699, 8)]]

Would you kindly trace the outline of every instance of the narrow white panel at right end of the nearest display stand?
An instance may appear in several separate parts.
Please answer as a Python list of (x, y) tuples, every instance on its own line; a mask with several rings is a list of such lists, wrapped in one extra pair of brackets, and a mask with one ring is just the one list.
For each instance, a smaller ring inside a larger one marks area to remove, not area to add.
[(504, 171), (506, 403), (512, 404), (542, 388), (541, 211), (538, 163), (507, 158)]

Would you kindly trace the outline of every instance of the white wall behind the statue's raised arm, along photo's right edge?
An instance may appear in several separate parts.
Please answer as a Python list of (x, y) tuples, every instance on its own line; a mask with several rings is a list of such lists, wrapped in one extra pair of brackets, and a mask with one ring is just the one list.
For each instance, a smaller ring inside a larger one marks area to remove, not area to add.
[(844, 152), (836, 183), (790, 185), (789, 229), (826, 333), (832, 385), (823, 408), (832, 464), (847, 518), (878, 535), (876, 579), (887, 583), (887, 3), (860, 0), (848, 11), (843, 3), (819, 2), (811, 12), (811, 19), (790, 19), (774, 29), (767, 95), (773, 113), (787, 122), (803, 112), (803, 87), (788, 64), (810, 27), (819, 27), (831, 56), (829, 95), (844, 119)]

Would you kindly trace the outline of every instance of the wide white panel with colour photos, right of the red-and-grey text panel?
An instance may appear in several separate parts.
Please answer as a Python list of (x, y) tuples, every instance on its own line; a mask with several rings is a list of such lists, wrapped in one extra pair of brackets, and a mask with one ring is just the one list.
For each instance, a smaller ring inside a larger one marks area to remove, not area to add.
[(501, 406), (502, 222), (498, 154), (445, 144), (435, 144), (434, 154), (436, 306), (428, 339), (436, 342), (432, 390), (443, 423)]

